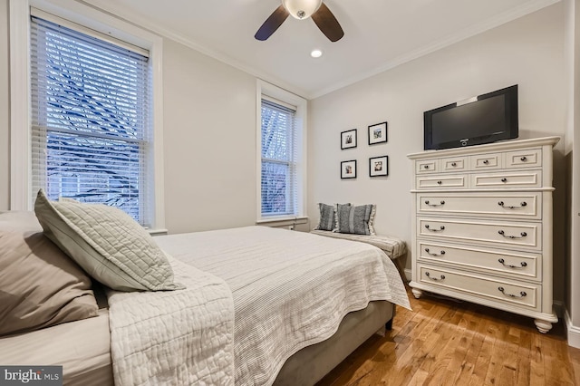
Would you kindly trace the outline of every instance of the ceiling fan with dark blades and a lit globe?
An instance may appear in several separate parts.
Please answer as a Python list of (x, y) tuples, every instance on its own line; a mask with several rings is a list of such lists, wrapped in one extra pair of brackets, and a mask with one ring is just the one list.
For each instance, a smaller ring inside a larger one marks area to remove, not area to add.
[(254, 37), (257, 40), (266, 40), (284, 23), (289, 14), (300, 20), (312, 17), (314, 23), (331, 42), (336, 42), (344, 36), (341, 24), (338, 24), (323, 0), (282, 0), (282, 5), (270, 14)]

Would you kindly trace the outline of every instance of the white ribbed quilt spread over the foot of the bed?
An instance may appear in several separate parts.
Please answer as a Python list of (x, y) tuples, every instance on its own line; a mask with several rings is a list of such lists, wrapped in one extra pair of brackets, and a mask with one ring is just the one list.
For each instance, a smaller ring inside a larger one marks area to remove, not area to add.
[(156, 240), (229, 285), (238, 385), (272, 384), (286, 359), (332, 336), (344, 315), (371, 301), (410, 308), (397, 268), (375, 246), (269, 227)]

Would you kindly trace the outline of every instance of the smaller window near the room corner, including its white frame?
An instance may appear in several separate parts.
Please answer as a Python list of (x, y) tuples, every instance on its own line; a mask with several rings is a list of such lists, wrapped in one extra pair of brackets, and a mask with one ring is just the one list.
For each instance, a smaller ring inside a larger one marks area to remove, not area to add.
[(305, 101), (272, 85), (260, 86), (258, 217), (302, 217)]

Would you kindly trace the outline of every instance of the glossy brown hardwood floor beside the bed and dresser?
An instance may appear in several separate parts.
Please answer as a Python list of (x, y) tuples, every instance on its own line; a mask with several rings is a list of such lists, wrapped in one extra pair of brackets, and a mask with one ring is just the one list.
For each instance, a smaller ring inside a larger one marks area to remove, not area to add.
[(397, 307), (391, 331), (373, 335), (318, 386), (578, 385), (580, 349), (563, 322), (538, 333), (531, 318), (434, 295)]

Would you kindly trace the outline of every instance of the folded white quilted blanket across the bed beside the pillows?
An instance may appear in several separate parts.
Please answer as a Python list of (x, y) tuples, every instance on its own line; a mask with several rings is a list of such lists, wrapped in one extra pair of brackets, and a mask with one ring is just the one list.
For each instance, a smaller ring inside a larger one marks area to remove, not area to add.
[(233, 385), (234, 307), (215, 275), (169, 258), (166, 292), (109, 292), (115, 385)]

